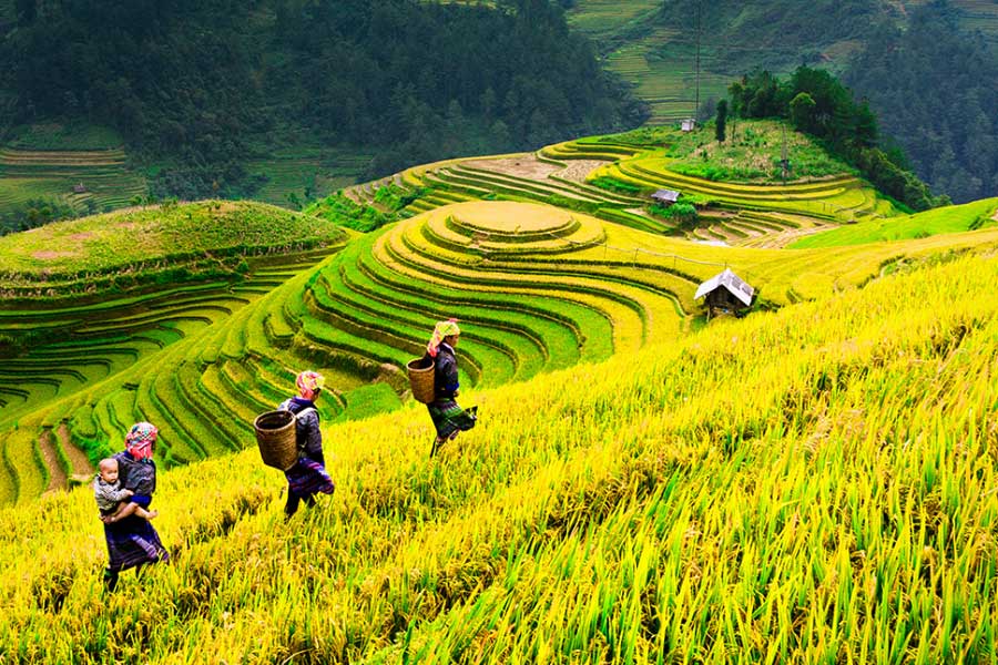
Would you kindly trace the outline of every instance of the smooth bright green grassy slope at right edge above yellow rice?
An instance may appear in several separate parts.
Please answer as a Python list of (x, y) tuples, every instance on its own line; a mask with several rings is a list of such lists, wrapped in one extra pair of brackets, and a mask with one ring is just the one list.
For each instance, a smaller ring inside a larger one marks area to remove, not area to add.
[(791, 247), (801, 249), (841, 247), (959, 233), (977, 226), (994, 226), (996, 211), (998, 211), (998, 198), (984, 198), (974, 203), (936, 208), (915, 215), (870, 219), (855, 225), (839, 226), (801, 238)]

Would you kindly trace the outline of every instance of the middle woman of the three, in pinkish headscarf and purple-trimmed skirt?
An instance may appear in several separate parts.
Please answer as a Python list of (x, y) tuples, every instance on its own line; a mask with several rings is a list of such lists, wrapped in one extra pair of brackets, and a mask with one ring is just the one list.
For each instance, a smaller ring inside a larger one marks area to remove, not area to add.
[(325, 382), (323, 375), (312, 370), (303, 371), (295, 379), (298, 395), (277, 407), (295, 415), (295, 439), (298, 444), (298, 461), (284, 472), (287, 478), (287, 503), (284, 505), (286, 520), (298, 511), (302, 500), (312, 507), (315, 505), (317, 493), (332, 494), (336, 489), (326, 472), (323, 433), (319, 431), (319, 416), (315, 408), (315, 400)]

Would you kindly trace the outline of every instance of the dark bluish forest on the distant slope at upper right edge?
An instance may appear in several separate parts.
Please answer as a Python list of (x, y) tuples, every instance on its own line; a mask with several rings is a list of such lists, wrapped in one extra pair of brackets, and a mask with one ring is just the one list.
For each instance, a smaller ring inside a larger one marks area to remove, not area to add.
[(933, 2), (883, 28), (844, 78), (879, 110), (916, 172), (956, 202), (998, 193), (998, 53)]

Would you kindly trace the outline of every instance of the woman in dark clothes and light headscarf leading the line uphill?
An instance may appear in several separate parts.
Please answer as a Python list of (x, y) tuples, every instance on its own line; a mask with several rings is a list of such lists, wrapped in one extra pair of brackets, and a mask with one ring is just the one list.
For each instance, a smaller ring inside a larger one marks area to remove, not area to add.
[(430, 361), (435, 364), (435, 397), (434, 401), (426, 405), (434, 427), (437, 429), (430, 457), (434, 457), (445, 442), (454, 440), (460, 432), (475, 427), (477, 419), (478, 407), (471, 407), (466, 411), (455, 401), (460, 391), (460, 383), (458, 382), (457, 358), (454, 350), (460, 335), (461, 329), (456, 319), (438, 323), (429, 344), (426, 345), (426, 355), (422, 357), (425, 367), (429, 367)]

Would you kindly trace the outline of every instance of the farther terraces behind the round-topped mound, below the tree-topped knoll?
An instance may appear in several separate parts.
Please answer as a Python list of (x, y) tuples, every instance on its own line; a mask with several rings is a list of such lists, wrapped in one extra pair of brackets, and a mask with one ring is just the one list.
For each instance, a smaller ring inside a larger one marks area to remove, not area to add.
[[(668, 142), (668, 135), (664, 140)], [(723, 183), (671, 171), (671, 160), (663, 156), (664, 152), (661, 143), (624, 143), (613, 136), (583, 139), (546, 146), (536, 155), (427, 164), (394, 178), (360, 185), (352, 193), (359, 201), (371, 202), (377, 187), (390, 181), (422, 193), (404, 211), (409, 215), (459, 201), (536, 201), (640, 231), (755, 247), (781, 247), (842, 223), (897, 214), (886, 198), (852, 174), (785, 185)], [(594, 186), (592, 181), (601, 177), (633, 185), (637, 192)], [(706, 203), (699, 223), (679, 228), (650, 214), (649, 195), (659, 188), (675, 190), (689, 200)]]

